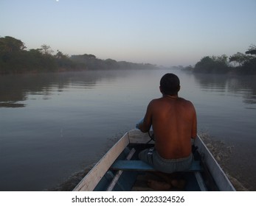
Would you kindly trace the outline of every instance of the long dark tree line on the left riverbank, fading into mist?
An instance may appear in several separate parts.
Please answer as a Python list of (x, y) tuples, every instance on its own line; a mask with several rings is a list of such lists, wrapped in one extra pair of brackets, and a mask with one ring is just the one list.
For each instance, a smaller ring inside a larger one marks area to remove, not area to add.
[(156, 68), (156, 65), (100, 60), (93, 54), (69, 57), (59, 50), (54, 54), (46, 44), (40, 49), (26, 50), (21, 40), (10, 36), (0, 38), (0, 74), (122, 68)]

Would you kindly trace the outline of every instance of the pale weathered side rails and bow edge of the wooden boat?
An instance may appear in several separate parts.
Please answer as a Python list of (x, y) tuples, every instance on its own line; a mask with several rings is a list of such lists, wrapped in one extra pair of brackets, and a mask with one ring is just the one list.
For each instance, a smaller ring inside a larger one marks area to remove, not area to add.
[[(139, 129), (131, 129), (125, 132), (125, 135), (122, 135), (122, 138), (120, 138), (95, 166), (91, 168), (91, 171), (83, 177), (83, 180), (78, 183), (73, 191), (93, 191), (98, 182), (100, 182), (104, 174), (129, 143), (148, 143), (149, 141), (151, 141), (151, 138), (148, 133), (140, 132)], [(153, 143), (153, 141), (151, 141), (151, 143)], [(234, 186), (229, 181), (228, 177), (226, 177), (221, 166), (218, 165), (210, 150), (207, 149), (207, 146), (198, 135), (194, 144), (198, 147), (198, 152), (203, 154), (205, 163), (210, 169), (210, 173), (220, 191), (235, 191)]]

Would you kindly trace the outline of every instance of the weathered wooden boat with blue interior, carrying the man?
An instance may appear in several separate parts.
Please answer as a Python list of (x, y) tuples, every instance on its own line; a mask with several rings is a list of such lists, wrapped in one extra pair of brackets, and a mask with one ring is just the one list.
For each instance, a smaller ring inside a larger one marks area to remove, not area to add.
[[(148, 143), (150, 141), (150, 143)], [(148, 191), (143, 177), (153, 168), (138, 160), (137, 154), (153, 146), (148, 133), (126, 132), (75, 187), (74, 191)], [(184, 191), (235, 191), (215, 158), (198, 136), (190, 170), (180, 172), (187, 182)], [(141, 184), (141, 185), (140, 185)]]

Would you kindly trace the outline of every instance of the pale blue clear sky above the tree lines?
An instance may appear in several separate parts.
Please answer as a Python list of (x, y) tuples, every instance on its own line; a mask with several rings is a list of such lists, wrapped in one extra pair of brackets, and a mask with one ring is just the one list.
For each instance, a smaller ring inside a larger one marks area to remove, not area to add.
[(0, 36), (27, 49), (194, 65), (256, 44), (256, 0), (0, 0)]

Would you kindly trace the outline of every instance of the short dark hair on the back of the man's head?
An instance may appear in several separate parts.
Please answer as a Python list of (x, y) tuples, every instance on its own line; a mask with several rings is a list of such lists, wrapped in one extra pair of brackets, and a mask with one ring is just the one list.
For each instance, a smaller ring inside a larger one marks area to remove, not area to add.
[(176, 95), (179, 92), (179, 77), (167, 73), (160, 80), (160, 87), (163, 94)]

